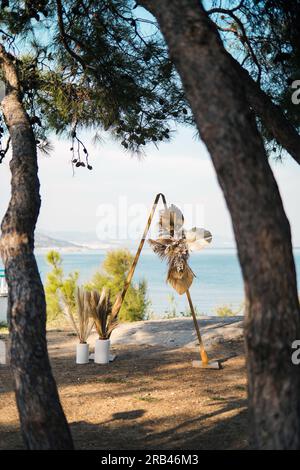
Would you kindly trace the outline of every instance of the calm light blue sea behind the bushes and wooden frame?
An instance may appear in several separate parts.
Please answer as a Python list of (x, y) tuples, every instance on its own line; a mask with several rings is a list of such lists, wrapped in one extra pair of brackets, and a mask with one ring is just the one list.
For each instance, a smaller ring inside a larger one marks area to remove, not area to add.
[[(79, 282), (84, 285), (101, 269), (105, 252), (66, 253), (61, 256), (65, 275), (78, 271)], [(294, 257), (300, 290), (300, 249), (294, 250)], [(36, 258), (45, 282), (51, 267), (47, 265), (45, 255), (37, 254)], [(190, 291), (199, 315), (216, 315), (224, 307), (243, 313), (244, 288), (236, 250), (214, 248), (192, 253), (190, 266), (196, 275)], [(147, 281), (151, 301), (149, 313), (153, 318), (170, 317), (175, 313), (180, 316), (188, 312), (186, 296), (178, 295), (166, 283), (166, 272), (166, 264), (155, 254), (142, 252), (133, 283), (137, 284), (142, 279)]]

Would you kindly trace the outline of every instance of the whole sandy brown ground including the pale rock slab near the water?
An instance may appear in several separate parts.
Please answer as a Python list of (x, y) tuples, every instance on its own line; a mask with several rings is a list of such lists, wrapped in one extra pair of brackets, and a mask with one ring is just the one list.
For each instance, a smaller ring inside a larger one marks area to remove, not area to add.
[[(247, 448), (241, 319), (202, 317), (200, 326), (210, 357), (224, 360), (220, 371), (191, 366), (198, 350), (190, 319), (121, 325), (112, 337), (117, 358), (105, 366), (76, 365), (72, 332), (49, 331), (76, 448)], [(0, 397), (0, 449), (22, 448), (8, 366), (0, 366)]]

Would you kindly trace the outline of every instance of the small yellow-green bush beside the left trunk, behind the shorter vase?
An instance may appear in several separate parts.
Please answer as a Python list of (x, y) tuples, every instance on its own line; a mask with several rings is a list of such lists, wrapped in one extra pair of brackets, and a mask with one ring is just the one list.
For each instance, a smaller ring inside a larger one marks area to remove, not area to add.
[(47, 274), (45, 284), (47, 320), (53, 321), (63, 314), (60, 305), (60, 293), (63, 295), (64, 301), (69, 306), (70, 310), (72, 312), (76, 310), (75, 294), (79, 273), (70, 273), (67, 277), (64, 277), (61, 266), (62, 259), (60, 254), (55, 250), (49, 251), (46, 260), (52, 267), (52, 271)]

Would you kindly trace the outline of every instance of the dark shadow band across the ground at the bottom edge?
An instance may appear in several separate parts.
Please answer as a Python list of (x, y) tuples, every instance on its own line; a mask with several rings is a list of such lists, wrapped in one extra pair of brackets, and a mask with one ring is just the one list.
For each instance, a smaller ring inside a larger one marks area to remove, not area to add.
[[(221, 413), (228, 411), (227, 405)], [(218, 413), (216, 413), (218, 414)], [(161, 418), (151, 419), (115, 417), (110, 423), (99, 425), (85, 421), (73, 423), (71, 430), (78, 449), (138, 450), (219, 450), (247, 449), (247, 411), (241, 409), (235, 415), (203, 424), (206, 416), (184, 420), (172, 426)], [(162, 431), (157, 431), (162, 429)]]

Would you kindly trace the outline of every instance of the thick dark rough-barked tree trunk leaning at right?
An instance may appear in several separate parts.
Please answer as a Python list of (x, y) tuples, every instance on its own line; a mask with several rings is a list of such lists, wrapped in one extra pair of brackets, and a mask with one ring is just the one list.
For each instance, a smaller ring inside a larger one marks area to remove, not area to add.
[(290, 227), (243, 82), (198, 0), (140, 0), (157, 18), (231, 213), (247, 299), (253, 445), (300, 447), (300, 338)]

